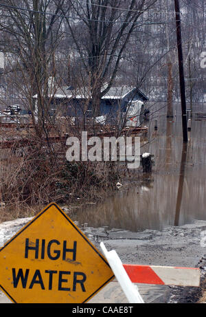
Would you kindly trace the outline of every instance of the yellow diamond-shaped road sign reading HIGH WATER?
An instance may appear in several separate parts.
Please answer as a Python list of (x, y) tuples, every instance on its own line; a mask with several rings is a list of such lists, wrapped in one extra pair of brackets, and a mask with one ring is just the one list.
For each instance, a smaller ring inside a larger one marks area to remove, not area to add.
[(86, 303), (113, 278), (104, 256), (54, 203), (0, 250), (0, 288), (14, 303)]

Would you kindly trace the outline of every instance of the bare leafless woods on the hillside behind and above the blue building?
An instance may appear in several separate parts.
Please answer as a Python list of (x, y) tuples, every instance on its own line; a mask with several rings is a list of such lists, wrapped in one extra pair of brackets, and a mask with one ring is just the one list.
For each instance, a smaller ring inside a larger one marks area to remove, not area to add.
[[(21, 100), (34, 116), (37, 94), (43, 120), (50, 78), (54, 89), (89, 87), (95, 115), (112, 86), (128, 85), (155, 102), (167, 100), (172, 116), (172, 101), (180, 101), (173, 0), (8, 0), (0, 5), (1, 107)], [(192, 107), (204, 98), (205, 1), (181, 1), (181, 22)]]

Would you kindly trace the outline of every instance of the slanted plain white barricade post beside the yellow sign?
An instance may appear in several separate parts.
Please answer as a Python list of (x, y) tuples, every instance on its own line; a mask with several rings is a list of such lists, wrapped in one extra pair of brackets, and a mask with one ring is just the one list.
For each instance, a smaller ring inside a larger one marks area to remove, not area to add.
[(115, 250), (111, 250), (108, 252), (103, 242), (100, 243), (100, 248), (102, 249), (102, 252), (106, 257), (106, 260), (108, 261), (111, 270), (113, 270), (113, 273), (115, 274), (117, 281), (122, 287), (122, 290), (126, 295), (126, 298), (128, 299), (129, 303), (144, 304), (144, 300), (141, 298), (141, 295), (139, 294), (138, 287), (130, 281), (130, 278), (126, 273), (126, 270), (124, 269), (122, 261), (119, 259), (117, 252)]

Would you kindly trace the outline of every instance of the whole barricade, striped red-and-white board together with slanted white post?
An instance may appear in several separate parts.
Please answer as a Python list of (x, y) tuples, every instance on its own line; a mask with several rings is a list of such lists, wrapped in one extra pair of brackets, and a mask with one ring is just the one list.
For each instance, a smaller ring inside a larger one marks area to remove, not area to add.
[(115, 250), (108, 252), (103, 242), (100, 247), (129, 303), (144, 303), (137, 285), (134, 287), (135, 283), (194, 287), (200, 285), (201, 270), (198, 268), (122, 264)]

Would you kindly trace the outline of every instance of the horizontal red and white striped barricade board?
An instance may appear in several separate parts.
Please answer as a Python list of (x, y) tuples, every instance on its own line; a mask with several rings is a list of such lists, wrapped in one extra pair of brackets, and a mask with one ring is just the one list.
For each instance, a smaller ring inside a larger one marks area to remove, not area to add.
[(133, 283), (198, 287), (201, 270), (192, 267), (123, 264)]

